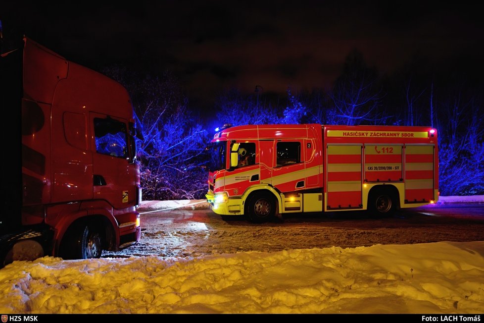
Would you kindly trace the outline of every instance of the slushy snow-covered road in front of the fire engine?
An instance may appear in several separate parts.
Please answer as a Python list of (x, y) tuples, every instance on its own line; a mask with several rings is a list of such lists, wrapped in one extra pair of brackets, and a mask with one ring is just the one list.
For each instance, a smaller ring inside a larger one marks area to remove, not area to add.
[(160, 211), (141, 215), (139, 244), (102, 257), (156, 255), (199, 257), (241, 251), (343, 248), (484, 240), (484, 204), (431, 205), (387, 218), (365, 213), (287, 215), (254, 224), (222, 218), (210, 210)]

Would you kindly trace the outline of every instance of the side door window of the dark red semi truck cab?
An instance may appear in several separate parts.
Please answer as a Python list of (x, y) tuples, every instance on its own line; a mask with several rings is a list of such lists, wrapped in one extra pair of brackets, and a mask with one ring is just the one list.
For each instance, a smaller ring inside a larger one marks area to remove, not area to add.
[(112, 118), (94, 118), (96, 152), (118, 158), (126, 158), (126, 124)]

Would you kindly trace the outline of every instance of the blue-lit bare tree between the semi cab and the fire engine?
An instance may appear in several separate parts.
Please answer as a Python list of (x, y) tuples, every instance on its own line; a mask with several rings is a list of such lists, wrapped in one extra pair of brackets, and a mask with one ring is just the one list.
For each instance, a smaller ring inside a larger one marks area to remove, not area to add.
[(207, 189), (203, 153), (209, 138), (178, 80), (171, 73), (152, 76), (119, 67), (105, 73), (128, 89), (144, 137), (138, 142), (143, 198), (201, 198)]

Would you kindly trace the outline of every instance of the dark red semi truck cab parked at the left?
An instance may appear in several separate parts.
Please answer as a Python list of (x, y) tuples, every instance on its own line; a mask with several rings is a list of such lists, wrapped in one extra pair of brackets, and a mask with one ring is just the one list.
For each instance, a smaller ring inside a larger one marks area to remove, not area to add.
[(19, 189), (12, 185), (9, 205), (21, 207), (1, 221), (3, 264), (98, 258), (136, 244), (140, 172), (126, 89), (29, 38), (1, 66), (5, 109), (13, 120), (21, 111), (21, 142), (11, 144), (21, 147)]

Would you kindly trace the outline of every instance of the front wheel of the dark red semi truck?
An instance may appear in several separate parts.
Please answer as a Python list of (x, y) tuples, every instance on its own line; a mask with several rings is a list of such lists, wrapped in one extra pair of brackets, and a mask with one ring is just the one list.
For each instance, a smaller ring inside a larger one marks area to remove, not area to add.
[(65, 259), (100, 258), (102, 252), (101, 236), (94, 225), (80, 223), (73, 228), (72, 235), (61, 250)]

